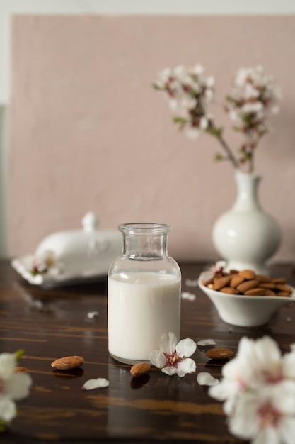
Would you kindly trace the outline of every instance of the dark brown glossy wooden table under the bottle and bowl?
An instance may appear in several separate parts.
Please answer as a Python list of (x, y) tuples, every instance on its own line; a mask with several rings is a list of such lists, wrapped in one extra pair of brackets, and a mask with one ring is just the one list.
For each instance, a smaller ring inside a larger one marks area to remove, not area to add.
[[(270, 335), (283, 351), (295, 342), (295, 308), (286, 306), (267, 326), (238, 328), (220, 320), (207, 296), (186, 279), (197, 279), (204, 264), (181, 264), (183, 292), (181, 338), (212, 338), (216, 346), (236, 351), (247, 335)], [(272, 277), (295, 284), (293, 265), (276, 265)], [(197, 372), (168, 377), (153, 368), (132, 379), (127, 365), (108, 355), (106, 281), (42, 289), (18, 277), (8, 261), (0, 262), (0, 352), (24, 349), (19, 365), (33, 377), (30, 396), (17, 402), (18, 416), (0, 435), (1, 443), (238, 443), (227, 431), (221, 403), (197, 383), (198, 372), (221, 376), (221, 363), (209, 361), (204, 348), (193, 359)], [(88, 318), (88, 312), (98, 316)], [(81, 355), (83, 367), (53, 370), (57, 357)], [(88, 379), (105, 377), (110, 386), (86, 392)]]

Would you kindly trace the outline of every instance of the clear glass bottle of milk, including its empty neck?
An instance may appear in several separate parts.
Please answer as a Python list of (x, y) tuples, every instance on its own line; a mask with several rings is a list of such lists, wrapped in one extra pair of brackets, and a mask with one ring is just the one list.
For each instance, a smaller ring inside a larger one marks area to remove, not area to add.
[(125, 223), (122, 255), (108, 272), (108, 347), (120, 362), (149, 362), (163, 333), (180, 339), (181, 273), (164, 223)]

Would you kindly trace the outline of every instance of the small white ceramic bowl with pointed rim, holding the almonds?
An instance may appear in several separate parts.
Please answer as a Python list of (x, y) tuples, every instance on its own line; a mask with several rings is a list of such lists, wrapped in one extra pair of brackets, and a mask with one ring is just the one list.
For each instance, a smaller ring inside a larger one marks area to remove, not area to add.
[(211, 299), (222, 321), (239, 327), (262, 326), (274, 316), (282, 306), (295, 301), (295, 289), (289, 297), (283, 296), (243, 296), (226, 294), (209, 289), (202, 285), (202, 274), (199, 277), (199, 288)]

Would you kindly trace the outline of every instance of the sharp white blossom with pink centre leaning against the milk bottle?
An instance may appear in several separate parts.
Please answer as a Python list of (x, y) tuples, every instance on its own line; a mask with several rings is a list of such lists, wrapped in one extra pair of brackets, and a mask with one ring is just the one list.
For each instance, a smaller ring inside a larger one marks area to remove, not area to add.
[(163, 373), (183, 377), (195, 372), (195, 361), (190, 358), (197, 348), (195, 341), (183, 339), (178, 343), (175, 334), (169, 332), (162, 335), (159, 348), (149, 353), (149, 360), (152, 365), (161, 368)]

